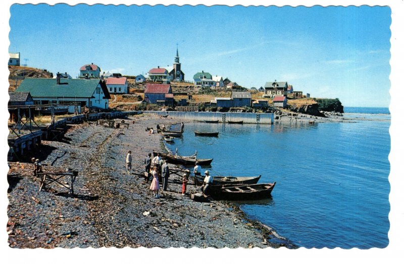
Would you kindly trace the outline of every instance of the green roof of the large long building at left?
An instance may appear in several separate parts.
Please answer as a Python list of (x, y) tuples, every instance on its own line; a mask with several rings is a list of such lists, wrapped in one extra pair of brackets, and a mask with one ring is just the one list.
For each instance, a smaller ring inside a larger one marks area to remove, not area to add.
[(16, 92), (29, 92), (32, 97), (90, 98), (100, 84), (105, 97), (111, 98), (105, 83), (99, 79), (61, 79), (60, 81), (62, 84), (58, 85), (56, 79), (25, 78)]

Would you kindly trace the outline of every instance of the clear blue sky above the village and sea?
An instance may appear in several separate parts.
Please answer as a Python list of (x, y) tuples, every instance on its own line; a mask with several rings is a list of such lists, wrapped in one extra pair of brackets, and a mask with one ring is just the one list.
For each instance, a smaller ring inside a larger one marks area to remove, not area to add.
[(124, 75), (174, 61), (186, 80), (204, 70), (250, 88), (287, 81), (344, 106), (388, 107), (388, 7), (13, 5), (10, 52), (30, 67)]

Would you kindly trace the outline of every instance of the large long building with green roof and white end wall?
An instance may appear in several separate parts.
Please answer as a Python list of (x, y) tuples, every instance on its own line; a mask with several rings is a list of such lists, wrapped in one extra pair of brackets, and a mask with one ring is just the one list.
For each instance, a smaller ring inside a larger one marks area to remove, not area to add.
[(80, 102), (88, 108), (108, 109), (110, 93), (100, 79), (25, 78), (16, 92), (29, 92), (34, 104)]

